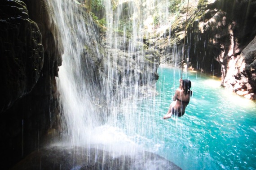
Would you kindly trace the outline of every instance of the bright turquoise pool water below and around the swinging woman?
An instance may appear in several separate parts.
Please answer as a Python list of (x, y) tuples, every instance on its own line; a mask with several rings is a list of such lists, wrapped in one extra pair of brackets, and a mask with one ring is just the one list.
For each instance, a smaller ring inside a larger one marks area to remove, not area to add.
[(256, 102), (227, 92), (217, 78), (188, 71), (183, 79), (192, 81), (194, 95), (185, 115), (164, 120), (181, 70), (158, 72), (158, 94), (119, 118), (128, 136), (183, 170), (255, 170)]

